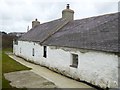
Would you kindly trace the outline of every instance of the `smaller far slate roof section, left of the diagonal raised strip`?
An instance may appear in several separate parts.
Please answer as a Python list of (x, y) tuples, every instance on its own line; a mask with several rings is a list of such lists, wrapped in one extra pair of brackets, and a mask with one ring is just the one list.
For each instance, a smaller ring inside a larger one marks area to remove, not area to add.
[(57, 19), (51, 22), (40, 24), (29, 30), (19, 40), (36, 41), (41, 43), (67, 22), (68, 21), (66, 21), (65, 19)]

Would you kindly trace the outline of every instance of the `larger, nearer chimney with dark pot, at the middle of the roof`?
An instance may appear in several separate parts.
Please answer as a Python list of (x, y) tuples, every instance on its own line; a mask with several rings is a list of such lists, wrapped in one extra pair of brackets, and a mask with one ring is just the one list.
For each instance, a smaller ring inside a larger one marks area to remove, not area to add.
[(66, 18), (68, 21), (74, 20), (74, 11), (70, 9), (69, 4), (62, 11), (62, 18)]

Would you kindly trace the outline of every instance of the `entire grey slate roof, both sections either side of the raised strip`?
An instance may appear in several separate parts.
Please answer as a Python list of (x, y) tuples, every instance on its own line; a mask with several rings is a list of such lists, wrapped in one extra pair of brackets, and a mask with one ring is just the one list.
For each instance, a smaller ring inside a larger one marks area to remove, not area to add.
[[(118, 50), (118, 13), (74, 20), (42, 42), (43, 45), (93, 49), (107, 52)], [(21, 40), (42, 41), (56, 25), (65, 20), (58, 19), (30, 30)], [(43, 38), (42, 38), (43, 37)]]

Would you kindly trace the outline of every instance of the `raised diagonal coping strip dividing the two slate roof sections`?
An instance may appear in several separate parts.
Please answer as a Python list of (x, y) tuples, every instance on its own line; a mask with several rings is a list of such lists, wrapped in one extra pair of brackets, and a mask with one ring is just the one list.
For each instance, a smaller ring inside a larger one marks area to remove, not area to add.
[(44, 40), (42, 40), (41, 42), (40, 42), (40, 44), (42, 44), (44, 41), (46, 41), (49, 37), (51, 37), (52, 35), (54, 35), (56, 32), (58, 32), (61, 28), (63, 28), (66, 24), (68, 24), (68, 20), (66, 20), (64, 23), (62, 23), (62, 25), (59, 25), (59, 26), (57, 26), (57, 27), (55, 27), (55, 31), (54, 32), (52, 32), (52, 33), (49, 33), (49, 35), (44, 39)]

